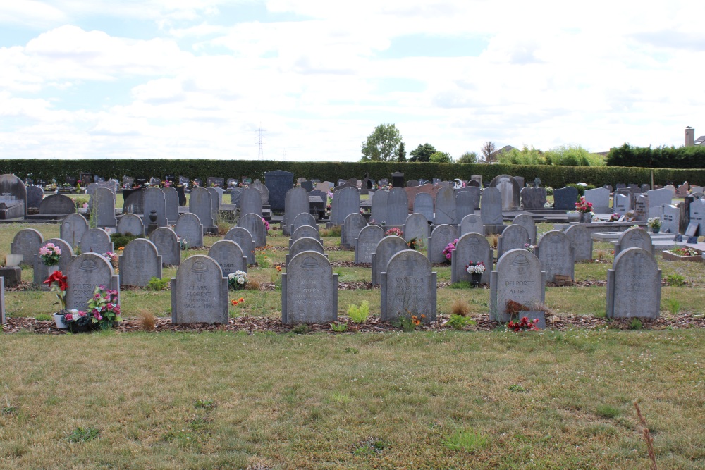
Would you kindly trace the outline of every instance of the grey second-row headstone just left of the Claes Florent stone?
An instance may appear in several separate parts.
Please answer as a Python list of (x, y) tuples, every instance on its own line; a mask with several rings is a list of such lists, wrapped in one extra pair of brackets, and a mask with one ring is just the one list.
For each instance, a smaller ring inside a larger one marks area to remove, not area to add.
[(131, 240), (120, 256), (120, 285), (145, 287), (150, 279), (161, 279), (161, 262), (154, 243), (146, 238)]

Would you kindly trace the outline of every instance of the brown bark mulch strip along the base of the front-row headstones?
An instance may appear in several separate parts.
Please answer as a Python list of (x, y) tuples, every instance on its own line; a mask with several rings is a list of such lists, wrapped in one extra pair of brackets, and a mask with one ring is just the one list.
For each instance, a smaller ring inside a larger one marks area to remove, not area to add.
[[(417, 326), (417, 330), (422, 331), (442, 331), (450, 329), (445, 326), (448, 321), (448, 315), (439, 315), (439, 320), (429, 325)], [(473, 315), (472, 319), (476, 324), (469, 326), (466, 330), (470, 331), (490, 331), (497, 330), (501, 327), (496, 321), (489, 319), (489, 314)], [(645, 330), (664, 330), (686, 329), (686, 328), (705, 328), (705, 316), (694, 316), (693, 314), (680, 314), (673, 319), (639, 319), (642, 322), (642, 328)], [(379, 317), (371, 317), (365, 323), (357, 324), (352, 321), (341, 319), (339, 323), (347, 323), (348, 330), (344, 333), (384, 333), (392, 331), (400, 331), (401, 329), (393, 326), (388, 321), (381, 321)], [(266, 316), (240, 316), (235, 319), (230, 319), (227, 325), (209, 325), (207, 323), (189, 323), (188, 325), (173, 325), (169, 318), (157, 318), (154, 331), (183, 331), (192, 333), (201, 333), (205, 331), (245, 331), (246, 333), (263, 333), (269, 331), (272, 333), (290, 333), (295, 326), (284, 325), (280, 319), (274, 319)], [(571, 330), (575, 328), (609, 328), (615, 330), (630, 330), (632, 329), (632, 319), (615, 319), (607, 321), (606, 319), (598, 319), (594, 316), (569, 316), (569, 315), (546, 315), (546, 328), (551, 330)], [(128, 333), (130, 331), (142, 330), (142, 323), (137, 319), (125, 320), (116, 328), (118, 333)], [(64, 335), (66, 331), (59, 330), (54, 325), (54, 321), (39, 321), (32, 318), (11, 318), (7, 324), (3, 326), (3, 333), (19, 333), (20, 331), (45, 334), (45, 335)], [(333, 334), (331, 326), (328, 323), (308, 325), (309, 333), (330, 333)]]

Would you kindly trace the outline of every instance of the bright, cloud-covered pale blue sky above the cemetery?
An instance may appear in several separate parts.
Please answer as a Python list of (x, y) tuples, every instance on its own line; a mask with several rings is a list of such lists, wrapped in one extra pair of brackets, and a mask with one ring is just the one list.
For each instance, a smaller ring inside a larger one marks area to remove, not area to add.
[(357, 161), (705, 135), (705, 2), (12, 0), (0, 158)]

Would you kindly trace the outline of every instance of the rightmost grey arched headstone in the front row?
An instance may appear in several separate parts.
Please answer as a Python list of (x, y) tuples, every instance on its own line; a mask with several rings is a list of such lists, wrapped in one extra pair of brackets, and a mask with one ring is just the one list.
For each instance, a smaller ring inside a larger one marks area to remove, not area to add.
[(627, 248), (607, 271), (607, 317), (656, 319), (661, 309), (661, 270), (648, 249)]

